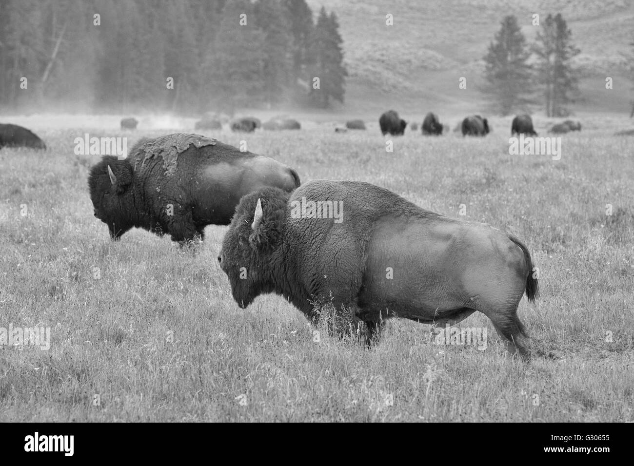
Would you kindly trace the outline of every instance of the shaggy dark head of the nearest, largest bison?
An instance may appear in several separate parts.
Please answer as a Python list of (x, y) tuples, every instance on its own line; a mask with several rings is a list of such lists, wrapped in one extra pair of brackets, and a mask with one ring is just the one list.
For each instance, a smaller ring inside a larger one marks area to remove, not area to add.
[(275, 290), (278, 280), (273, 274), (282, 270), (280, 245), (289, 196), (278, 188), (266, 188), (245, 195), (236, 207), (218, 262), (240, 307)]

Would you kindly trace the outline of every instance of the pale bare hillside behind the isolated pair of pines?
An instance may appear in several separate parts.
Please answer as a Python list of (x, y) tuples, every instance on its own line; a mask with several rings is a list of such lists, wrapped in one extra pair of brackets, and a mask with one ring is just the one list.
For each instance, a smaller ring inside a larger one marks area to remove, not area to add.
[[(482, 56), (507, 14), (516, 15), (527, 41), (548, 13), (562, 13), (581, 49), (576, 112), (629, 112), (633, 82), (626, 69), (634, 41), (634, 3), (628, 0), (308, 0), (313, 11), (337, 13), (349, 70), (342, 113), (398, 107), (410, 112), (443, 108), (481, 110), (477, 90)], [(385, 15), (394, 25), (385, 25)], [(458, 78), (467, 77), (467, 89)], [(614, 89), (605, 90), (605, 77)], [(368, 96), (373, 96), (368, 100)], [(538, 110), (538, 109), (536, 109)]]

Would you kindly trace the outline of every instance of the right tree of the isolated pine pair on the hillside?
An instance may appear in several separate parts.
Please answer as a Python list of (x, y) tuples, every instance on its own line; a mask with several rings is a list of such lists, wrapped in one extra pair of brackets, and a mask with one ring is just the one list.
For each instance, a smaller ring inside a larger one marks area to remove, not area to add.
[(537, 35), (534, 52), (538, 56), (538, 82), (545, 86), (548, 117), (566, 116), (568, 111), (564, 105), (572, 102), (579, 91), (571, 59), (580, 51), (571, 43), (571, 36), (560, 13), (554, 18), (548, 15), (543, 30)]

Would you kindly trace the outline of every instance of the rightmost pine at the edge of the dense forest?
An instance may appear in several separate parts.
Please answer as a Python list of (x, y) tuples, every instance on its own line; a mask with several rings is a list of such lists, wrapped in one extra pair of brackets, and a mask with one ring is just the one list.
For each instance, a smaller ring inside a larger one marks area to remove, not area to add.
[[(326, 108), (330, 100), (344, 101), (347, 71), (341, 49), (339, 22), (335, 13), (327, 15), (321, 7), (317, 25), (311, 39), (312, 76), (320, 80), (320, 88), (311, 86), (310, 96), (316, 105)], [(311, 84), (313, 82), (311, 81)]]

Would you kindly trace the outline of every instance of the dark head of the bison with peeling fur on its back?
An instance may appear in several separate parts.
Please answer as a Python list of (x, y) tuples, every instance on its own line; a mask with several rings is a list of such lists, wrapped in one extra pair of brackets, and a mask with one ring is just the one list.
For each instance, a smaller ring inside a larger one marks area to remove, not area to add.
[(108, 225), (110, 238), (118, 240), (134, 226), (132, 185), (134, 171), (127, 160), (105, 156), (88, 177), (94, 216)]

